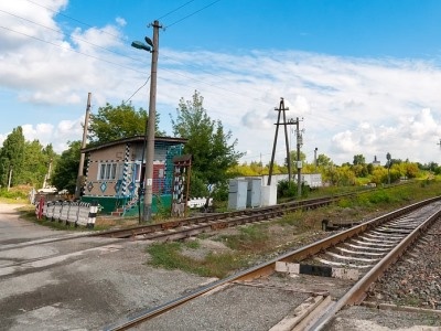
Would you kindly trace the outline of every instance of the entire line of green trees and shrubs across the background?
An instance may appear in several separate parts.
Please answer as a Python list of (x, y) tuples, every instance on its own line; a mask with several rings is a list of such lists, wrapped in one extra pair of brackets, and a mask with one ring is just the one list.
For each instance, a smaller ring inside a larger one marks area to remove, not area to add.
[[(227, 181), (234, 177), (262, 175), (269, 173), (269, 164), (251, 161), (239, 163), (241, 152), (236, 150), (237, 139), (232, 131), (226, 131), (219, 120), (209, 118), (204, 108), (203, 96), (195, 90), (192, 98), (181, 98), (175, 116), (170, 115), (173, 135), (187, 139), (184, 153), (193, 156), (191, 195), (226, 199)], [(144, 135), (148, 113), (135, 109), (131, 104), (121, 103), (100, 107), (97, 114), (90, 114), (88, 129), (88, 147), (98, 146), (116, 139)], [(157, 136), (165, 132), (159, 129), (160, 118), (155, 118)], [(23, 130), (19, 126), (3, 141), (0, 148), (0, 185), (30, 185), (40, 189), (54, 185), (57, 190), (75, 192), (80, 141), (68, 141), (68, 148), (57, 154), (52, 145), (42, 146), (39, 140), (25, 141)], [(322, 180), (330, 185), (357, 185), (366, 183), (397, 182), (400, 179), (412, 179), (421, 173), (441, 174), (438, 163), (427, 164), (388, 160), (385, 166), (366, 163), (363, 154), (354, 156), (353, 162), (341, 166), (325, 154), (319, 154), (316, 160), (308, 162), (303, 152), (300, 153), (303, 163), (302, 173), (321, 173)], [(292, 174), (297, 171), (297, 151), (290, 152)], [(51, 173), (50, 169), (52, 170)], [(288, 161), (273, 164), (273, 173), (288, 173)], [(208, 192), (208, 188), (215, 188)]]

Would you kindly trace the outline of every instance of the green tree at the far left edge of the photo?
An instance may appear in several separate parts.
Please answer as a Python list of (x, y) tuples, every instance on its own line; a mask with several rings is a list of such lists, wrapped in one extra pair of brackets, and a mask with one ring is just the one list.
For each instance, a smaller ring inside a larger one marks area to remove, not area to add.
[(11, 186), (21, 184), (24, 160), (24, 136), (22, 127), (19, 126), (3, 141), (0, 153), (1, 186), (8, 185), (10, 174)]

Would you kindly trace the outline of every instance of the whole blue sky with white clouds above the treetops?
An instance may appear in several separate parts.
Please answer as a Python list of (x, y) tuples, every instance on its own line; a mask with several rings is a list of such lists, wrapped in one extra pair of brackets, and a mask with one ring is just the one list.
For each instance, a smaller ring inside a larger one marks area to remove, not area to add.
[[(243, 161), (269, 161), (280, 97), (301, 118), (302, 151), (335, 163), (375, 156), (441, 163), (441, 1), (14, 0), (0, 3), (0, 142), (82, 139), (95, 113), (127, 100), (150, 74), (130, 47), (159, 19), (158, 114), (171, 135), (195, 89)], [(148, 109), (149, 84), (130, 99)], [(295, 148), (295, 135), (289, 141)], [(278, 137), (277, 158), (284, 157)]]

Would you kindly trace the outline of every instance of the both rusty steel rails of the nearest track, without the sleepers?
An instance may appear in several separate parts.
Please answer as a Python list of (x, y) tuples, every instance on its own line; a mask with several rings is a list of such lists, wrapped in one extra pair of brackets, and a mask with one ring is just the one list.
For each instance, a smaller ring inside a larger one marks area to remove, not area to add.
[[(321, 250), (324, 250), (329, 247), (332, 247), (338, 243), (342, 243), (348, 238), (352, 238), (354, 236), (357, 236), (358, 234), (367, 231), (375, 228), (379, 225), (381, 225), (385, 222), (388, 222), (390, 220), (400, 217), (405, 214), (408, 214), (412, 211), (416, 211), (424, 205), (431, 204), (433, 202), (440, 201), (440, 197), (433, 197), (433, 199), (428, 199), (411, 205), (408, 205), (406, 207), (396, 210), (394, 212), (387, 213), (383, 216), (376, 217), (372, 221), (368, 221), (366, 223), (363, 223), (358, 226), (355, 226), (353, 228), (346, 229), (344, 232), (337, 233), (333, 236), (330, 236), (327, 238), (321, 239), (316, 243), (310, 244), (308, 246), (304, 246), (302, 248), (295, 249), (293, 252), (286, 253), (272, 260), (266, 261), (263, 264), (260, 264), (258, 266), (251, 267), (249, 269), (246, 269), (244, 271), (240, 271), (236, 275), (232, 275), (227, 278), (219, 279), (217, 281), (214, 281), (213, 284), (209, 284), (203, 288), (200, 288), (189, 295), (182, 296), (175, 300), (172, 300), (170, 302), (166, 302), (162, 306), (148, 309), (146, 311), (141, 311), (138, 314), (133, 317), (128, 317), (126, 320), (114, 324), (106, 327), (105, 330), (127, 330), (131, 327), (135, 327), (136, 324), (139, 324), (143, 321), (147, 321), (149, 319), (152, 319), (157, 316), (160, 316), (171, 309), (174, 309), (190, 300), (193, 300), (204, 293), (207, 293), (212, 290), (216, 290), (216, 288), (219, 288), (220, 286), (225, 286), (228, 284), (232, 284), (234, 281), (240, 281), (240, 280), (251, 280), (251, 279), (257, 279), (259, 277), (263, 276), (269, 276), (275, 271), (276, 268), (276, 263), (278, 261), (293, 261), (293, 260), (302, 260), (306, 257), (310, 257), (314, 254), (318, 254)], [(355, 286), (346, 293), (344, 295), (335, 305), (331, 306), (331, 308), (325, 311), (324, 314), (319, 319), (318, 322), (313, 325), (313, 328), (309, 330), (322, 330), (330, 320), (335, 316), (335, 313), (342, 309), (346, 305), (352, 305), (359, 302), (365, 296), (365, 292), (369, 285), (375, 281), (385, 270), (388, 266), (390, 266), (395, 260), (399, 258), (405, 252), (405, 249), (411, 245), (416, 238), (421, 234), (421, 232), (429, 226), (431, 222), (434, 222), (438, 217), (440, 217), (441, 211), (438, 211), (434, 213), (432, 216), (430, 216), (424, 223), (422, 223), (420, 226), (415, 228), (404, 241), (400, 242), (399, 245), (397, 245), (390, 253), (386, 255), (375, 267), (373, 267), (361, 280), (358, 280)]]

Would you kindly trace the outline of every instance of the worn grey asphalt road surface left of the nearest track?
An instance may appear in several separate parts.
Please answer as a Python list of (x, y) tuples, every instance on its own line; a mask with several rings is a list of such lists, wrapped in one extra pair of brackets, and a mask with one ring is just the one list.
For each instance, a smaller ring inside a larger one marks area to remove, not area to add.
[(146, 243), (50, 229), (17, 207), (0, 204), (0, 330), (101, 330), (206, 281), (149, 267)]

